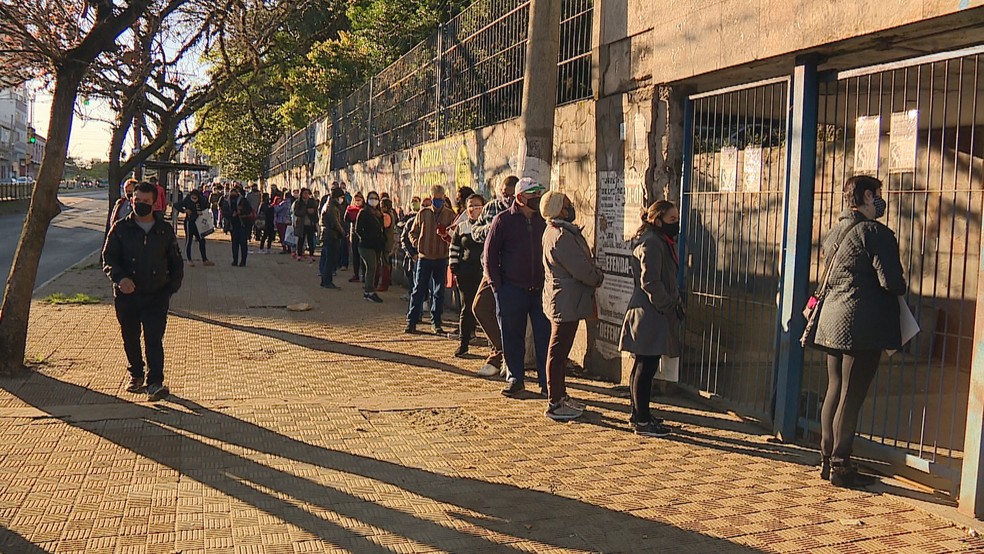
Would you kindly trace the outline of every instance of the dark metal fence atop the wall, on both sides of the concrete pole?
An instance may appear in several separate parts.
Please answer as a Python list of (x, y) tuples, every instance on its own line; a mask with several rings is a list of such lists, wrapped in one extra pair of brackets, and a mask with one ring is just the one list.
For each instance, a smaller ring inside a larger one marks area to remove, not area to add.
[[(336, 104), (331, 168), (518, 117), (529, 10), (530, 0), (479, 0)], [(593, 93), (594, 0), (563, 0), (561, 10), (557, 103), (566, 104)]]

